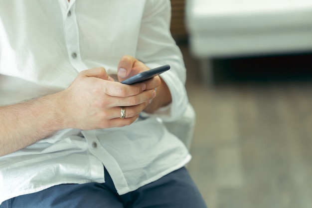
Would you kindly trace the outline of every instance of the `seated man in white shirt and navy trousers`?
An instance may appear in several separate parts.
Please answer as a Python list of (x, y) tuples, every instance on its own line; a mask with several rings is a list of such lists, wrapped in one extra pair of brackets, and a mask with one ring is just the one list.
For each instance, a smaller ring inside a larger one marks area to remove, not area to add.
[(0, 208), (205, 207), (159, 122), (187, 105), (169, 21), (168, 0), (0, 1)]

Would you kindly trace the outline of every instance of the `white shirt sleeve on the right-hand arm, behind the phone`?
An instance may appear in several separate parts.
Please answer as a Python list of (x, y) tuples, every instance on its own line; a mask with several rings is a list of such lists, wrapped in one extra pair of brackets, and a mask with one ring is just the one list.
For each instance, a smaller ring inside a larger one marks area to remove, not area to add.
[(163, 121), (173, 121), (182, 116), (188, 99), (185, 90), (186, 69), (182, 54), (170, 33), (171, 5), (169, 0), (147, 0), (142, 17), (137, 47), (137, 59), (148, 67), (169, 64), (170, 70), (161, 74), (167, 84), (172, 102), (153, 115)]

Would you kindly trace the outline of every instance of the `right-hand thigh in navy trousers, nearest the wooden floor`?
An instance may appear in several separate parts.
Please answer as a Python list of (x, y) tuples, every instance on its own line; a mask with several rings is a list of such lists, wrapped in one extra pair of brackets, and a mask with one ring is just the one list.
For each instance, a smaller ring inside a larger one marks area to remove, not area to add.
[(129, 204), (125, 208), (206, 208), (185, 168), (141, 187), (126, 198), (124, 201)]

